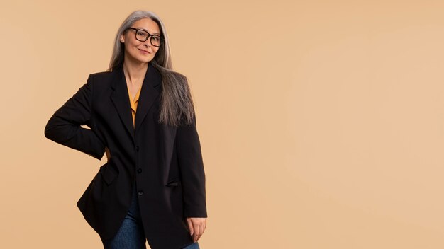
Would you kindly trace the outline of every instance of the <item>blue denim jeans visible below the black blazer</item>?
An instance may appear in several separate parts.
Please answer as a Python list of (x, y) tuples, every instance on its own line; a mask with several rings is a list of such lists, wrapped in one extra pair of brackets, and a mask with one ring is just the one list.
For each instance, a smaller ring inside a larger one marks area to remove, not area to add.
[[(101, 238), (104, 249), (146, 249), (145, 234), (138, 205), (137, 188), (134, 187), (130, 209), (123, 220), (116, 236), (109, 240)], [(192, 243), (183, 249), (199, 249), (199, 243)]]

